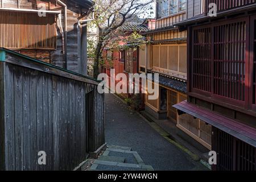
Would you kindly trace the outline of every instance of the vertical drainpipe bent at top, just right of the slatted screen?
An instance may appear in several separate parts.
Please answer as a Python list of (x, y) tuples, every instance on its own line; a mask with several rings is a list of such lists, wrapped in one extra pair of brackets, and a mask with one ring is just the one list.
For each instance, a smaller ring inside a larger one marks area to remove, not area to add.
[(67, 53), (67, 40), (68, 40), (68, 36), (67, 36), (67, 32), (68, 32), (68, 22), (67, 22), (67, 5), (65, 3), (63, 3), (60, 0), (56, 0), (57, 3), (59, 3), (61, 6), (64, 7), (64, 68), (68, 69), (68, 53)]

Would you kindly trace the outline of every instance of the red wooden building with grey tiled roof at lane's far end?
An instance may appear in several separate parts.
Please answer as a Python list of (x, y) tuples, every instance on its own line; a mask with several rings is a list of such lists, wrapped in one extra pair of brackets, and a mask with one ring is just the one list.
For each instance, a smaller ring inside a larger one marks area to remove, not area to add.
[[(134, 32), (142, 34), (151, 28), (155, 28), (155, 19), (139, 18), (133, 15), (127, 19), (126, 22), (119, 28), (121, 38), (118, 38), (118, 48), (106, 48), (103, 54), (104, 65), (102, 71), (110, 76), (110, 70), (115, 69), (115, 75), (118, 73), (125, 73), (128, 77), (129, 73), (139, 72), (139, 44), (136, 42), (126, 42), (126, 38)], [(124, 41), (122, 41), (124, 40)], [(115, 80), (117, 84), (120, 80)], [(127, 82), (128, 84), (128, 82)], [(133, 94), (122, 94), (123, 97), (133, 97)], [(143, 99), (143, 96), (142, 96)], [(142, 102), (143, 105), (143, 102)], [(143, 106), (142, 106), (143, 107)]]

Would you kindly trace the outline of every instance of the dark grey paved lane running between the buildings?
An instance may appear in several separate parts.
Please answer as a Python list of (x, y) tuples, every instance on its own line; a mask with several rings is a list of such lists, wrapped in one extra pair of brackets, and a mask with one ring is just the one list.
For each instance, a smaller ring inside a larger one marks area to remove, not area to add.
[(131, 147), (144, 164), (155, 170), (208, 170), (168, 142), (113, 94), (105, 95), (105, 125), (106, 143)]

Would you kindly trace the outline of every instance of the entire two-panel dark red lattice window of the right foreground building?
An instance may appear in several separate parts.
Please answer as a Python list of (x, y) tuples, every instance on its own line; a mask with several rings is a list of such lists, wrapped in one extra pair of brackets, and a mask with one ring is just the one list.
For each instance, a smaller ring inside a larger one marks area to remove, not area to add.
[(192, 92), (247, 107), (247, 26), (241, 18), (193, 28)]

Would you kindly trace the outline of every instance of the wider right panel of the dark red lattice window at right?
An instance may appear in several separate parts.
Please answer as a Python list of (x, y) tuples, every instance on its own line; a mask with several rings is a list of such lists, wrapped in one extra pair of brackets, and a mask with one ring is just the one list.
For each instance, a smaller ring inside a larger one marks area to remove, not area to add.
[(246, 23), (214, 27), (213, 93), (245, 101)]

